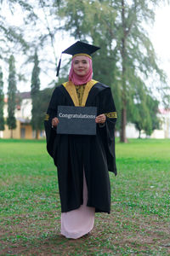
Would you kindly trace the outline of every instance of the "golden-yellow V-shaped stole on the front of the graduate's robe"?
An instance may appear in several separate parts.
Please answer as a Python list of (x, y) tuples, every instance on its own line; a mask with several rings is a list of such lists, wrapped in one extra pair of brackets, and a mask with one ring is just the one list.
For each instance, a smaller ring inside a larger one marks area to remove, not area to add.
[[(97, 84), (97, 83), (98, 83), (98, 81), (95, 81), (94, 79), (92, 79), (86, 84), (85, 89), (84, 89), (84, 93), (83, 93), (83, 96), (82, 96), (81, 107), (84, 107), (86, 105), (86, 101), (88, 99), (89, 91), (92, 89), (94, 84)], [(76, 90), (75, 84), (73, 84), (71, 81), (69, 81), (69, 82), (64, 83), (63, 86), (65, 87), (65, 90), (68, 91), (69, 95), (71, 96), (71, 99), (74, 102), (74, 105), (76, 107), (79, 107), (80, 104), (79, 104), (79, 101), (78, 101), (77, 90)]]

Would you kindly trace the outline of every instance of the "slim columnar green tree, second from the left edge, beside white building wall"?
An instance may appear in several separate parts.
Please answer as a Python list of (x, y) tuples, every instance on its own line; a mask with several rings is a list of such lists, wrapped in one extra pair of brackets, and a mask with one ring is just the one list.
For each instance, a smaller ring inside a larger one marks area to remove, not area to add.
[(14, 66), (14, 55), (10, 55), (8, 70), (8, 118), (7, 125), (8, 129), (11, 131), (11, 138), (13, 137), (13, 130), (16, 128), (16, 119), (14, 116), (16, 108), (16, 73)]

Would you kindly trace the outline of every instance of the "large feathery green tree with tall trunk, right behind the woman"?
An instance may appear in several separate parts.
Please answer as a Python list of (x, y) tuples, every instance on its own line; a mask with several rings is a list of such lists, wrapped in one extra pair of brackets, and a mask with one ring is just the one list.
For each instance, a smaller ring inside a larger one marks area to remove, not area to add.
[(127, 108), (132, 101), (134, 105), (135, 98), (131, 99), (131, 96), (138, 80), (143, 82), (140, 83), (143, 87), (145, 80), (155, 73), (161, 82), (165, 82), (144, 22), (152, 23), (156, 5), (168, 1), (72, 2), (75, 0), (65, 0), (62, 5), (61, 14), (66, 17), (65, 29), (75, 38), (89, 38), (92, 43), (102, 46), (96, 55), (98, 61), (95, 62), (94, 57), (94, 74), (97, 74), (96, 79), (98, 75), (100, 79), (103, 78), (104, 83), (112, 81), (108, 84), (116, 93), (116, 107), (121, 112), (121, 142), (126, 142)]

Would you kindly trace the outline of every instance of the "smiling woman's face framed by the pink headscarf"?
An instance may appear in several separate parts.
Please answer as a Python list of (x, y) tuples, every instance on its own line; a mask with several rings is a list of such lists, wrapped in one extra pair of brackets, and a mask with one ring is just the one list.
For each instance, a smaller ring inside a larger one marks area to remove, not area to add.
[(88, 73), (89, 61), (88, 57), (78, 55), (73, 60), (73, 70), (78, 76), (85, 76)]

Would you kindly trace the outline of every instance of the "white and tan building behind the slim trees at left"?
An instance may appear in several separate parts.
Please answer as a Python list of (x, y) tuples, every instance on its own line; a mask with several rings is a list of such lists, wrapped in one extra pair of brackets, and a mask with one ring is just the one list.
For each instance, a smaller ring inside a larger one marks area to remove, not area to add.
[[(17, 105), (15, 109), (15, 118), (16, 118), (16, 129), (13, 130), (13, 138), (26, 138), (32, 139), (36, 137), (36, 132), (32, 130), (31, 127), (31, 93), (30, 92), (21, 92), (20, 93), (21, 102)], [(8, 117), (8, 99), (4, 99), (4, 118)], [(8, 130), (8, 125), (5, 125), (5, 130), (0, 131), (1, 138), (10, 138), (11, 131)], [(44, 131), (38, 132), (38, 138), (44, 137)]]

